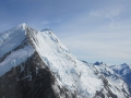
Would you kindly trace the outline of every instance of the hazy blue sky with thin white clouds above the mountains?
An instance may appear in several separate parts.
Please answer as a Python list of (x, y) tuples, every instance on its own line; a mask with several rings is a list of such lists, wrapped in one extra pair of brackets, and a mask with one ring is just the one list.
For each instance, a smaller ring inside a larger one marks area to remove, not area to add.
[(131, 64), (131, 0), (0, 0), (0, 33), (49, 27), (87, 62)]

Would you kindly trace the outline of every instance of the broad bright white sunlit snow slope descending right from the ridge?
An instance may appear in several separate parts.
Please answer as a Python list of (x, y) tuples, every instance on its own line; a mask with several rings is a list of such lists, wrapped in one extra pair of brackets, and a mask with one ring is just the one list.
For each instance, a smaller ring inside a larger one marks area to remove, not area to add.
[(70, 95), (76, 93), (78, 97), (84, 98), (92, 98), (96, 90), (102, 89), (103, 82), (94, 75), (92, 68), (71, 54), (51, 30), (36, 32), (28, 28), (27, 34), (32, 36), (36, 50), (61, 88), (68, 89)]

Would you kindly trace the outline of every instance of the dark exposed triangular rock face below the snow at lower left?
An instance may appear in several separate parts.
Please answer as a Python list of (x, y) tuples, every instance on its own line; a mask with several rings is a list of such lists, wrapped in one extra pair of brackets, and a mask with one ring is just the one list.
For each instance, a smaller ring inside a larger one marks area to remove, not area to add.
[(53, 76), (35, 52), (0, 77), (0, 98), (56, 98), (52, 83)]

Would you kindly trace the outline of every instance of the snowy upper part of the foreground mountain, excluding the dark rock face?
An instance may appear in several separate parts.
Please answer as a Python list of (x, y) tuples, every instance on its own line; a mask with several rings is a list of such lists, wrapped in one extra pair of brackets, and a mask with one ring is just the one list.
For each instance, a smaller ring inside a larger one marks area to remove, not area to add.
[(25, 23), (0, 36), (0, 58), (7, 56), (0, 62), (0, 75), (25, 62), (34, 52), (53, 75), (51, 85), (58, 98), (126, 98), (94, 65), (78, 60), (52, 30), (37, 32)]

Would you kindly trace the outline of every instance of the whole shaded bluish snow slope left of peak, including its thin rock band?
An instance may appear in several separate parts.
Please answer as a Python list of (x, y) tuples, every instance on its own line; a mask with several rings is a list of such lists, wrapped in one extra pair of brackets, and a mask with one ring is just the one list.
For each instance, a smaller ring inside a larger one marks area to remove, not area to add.
[(21, 24), (0, 36), (0, 76), (31, 57), (34, 49), (27, 44), (25, 24)]

